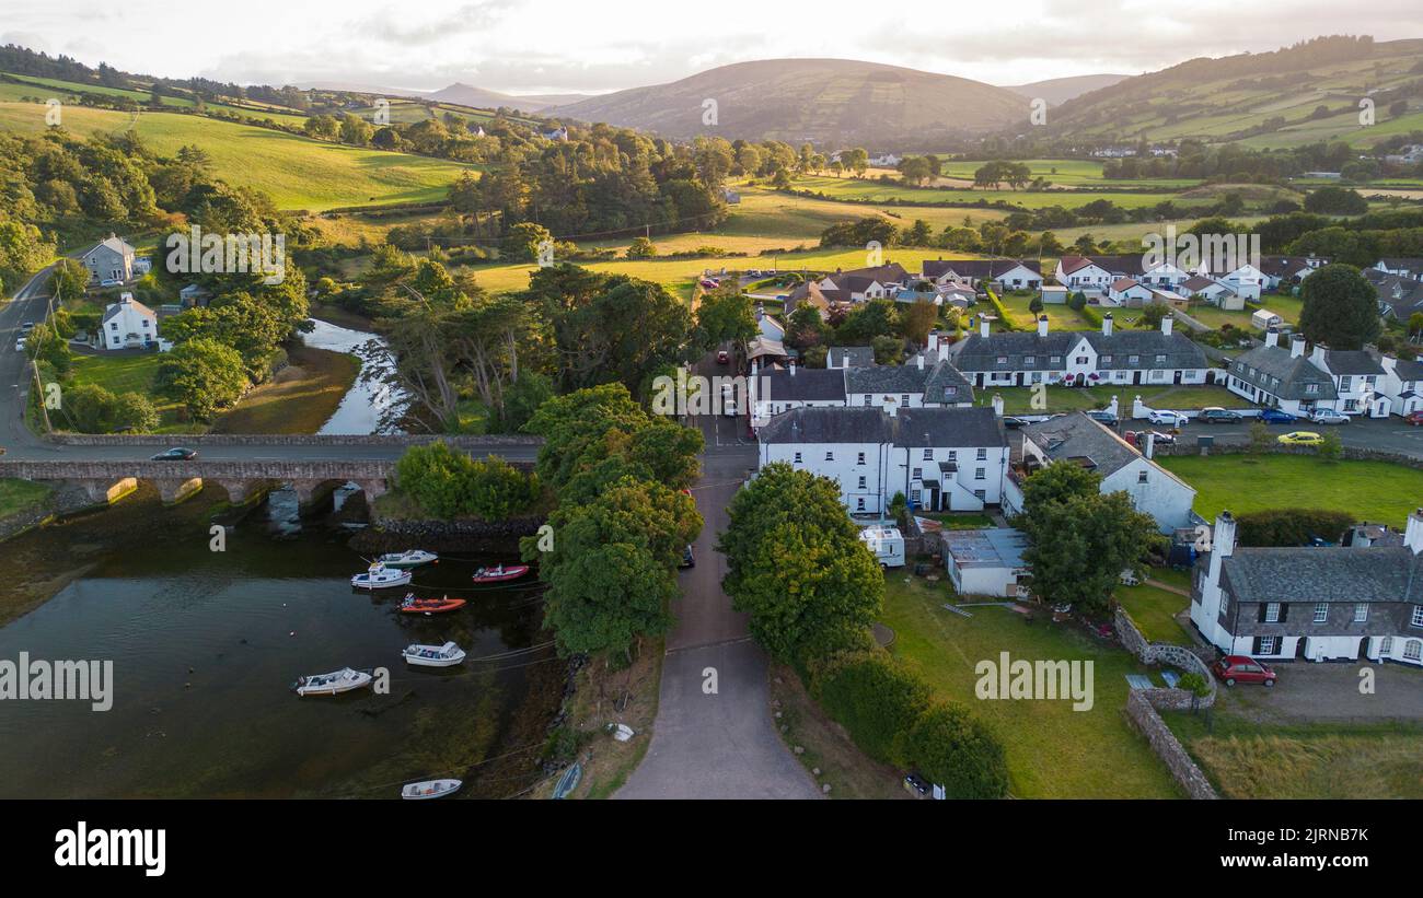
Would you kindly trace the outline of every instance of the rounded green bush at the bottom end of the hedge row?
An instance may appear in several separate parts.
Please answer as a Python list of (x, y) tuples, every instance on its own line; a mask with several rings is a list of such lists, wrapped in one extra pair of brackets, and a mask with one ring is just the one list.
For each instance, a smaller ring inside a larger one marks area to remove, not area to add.
[(982, 720), (958, 703), (933, 705), (914, 722), (906, 739), (912, 766), (949, 799), (1002, 799), (1007, 794), (1003, 746)]

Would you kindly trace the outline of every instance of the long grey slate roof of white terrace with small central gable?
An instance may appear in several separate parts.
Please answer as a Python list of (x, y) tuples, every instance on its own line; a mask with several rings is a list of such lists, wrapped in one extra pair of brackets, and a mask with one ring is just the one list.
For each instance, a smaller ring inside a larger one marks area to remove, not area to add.
[[(1190, 337), (1174, 332), (1167, 335), (1157, 330), (1123, 328), (1114, 330), (1110, 337), (1101, 331), (1049, 331), (1046, 337), (1039, 337), (1037, 331), (1010, 331), (989, 334), (988, 340), (970, 334), (956, 342), (952, 352), (959, 371), (1050, 371), (1064, 368), (1066, 359), (1053, 365), (1049, 357), (1066, 357), (1083, 338), (1097, 351), (1100, 369), (1210, 367), (1205, 352)], [(1103, 355), (1111, 357), (1110, 365), (1101, 364)], [(1136, 364), (1131, 364), (1133, 355), (1137, 357)], [(1165, 355), (1165, 361), (1157, 364), (1157, 355)], [(1007, 357), (1007, 361), (1000, 364), (999, 357)], [(1026, 357), (1033, 358), (1032, 364), (1023, 361)]]

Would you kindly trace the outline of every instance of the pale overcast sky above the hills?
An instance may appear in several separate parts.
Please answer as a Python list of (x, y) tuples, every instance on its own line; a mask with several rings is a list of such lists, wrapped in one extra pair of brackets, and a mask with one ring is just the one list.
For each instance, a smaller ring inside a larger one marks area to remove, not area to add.
[(1010, 85), (1321, 34), (1423, 37), (1419, 0), (0, 0), (0, 43), (242, 84), (605, 92), (841, 57)]

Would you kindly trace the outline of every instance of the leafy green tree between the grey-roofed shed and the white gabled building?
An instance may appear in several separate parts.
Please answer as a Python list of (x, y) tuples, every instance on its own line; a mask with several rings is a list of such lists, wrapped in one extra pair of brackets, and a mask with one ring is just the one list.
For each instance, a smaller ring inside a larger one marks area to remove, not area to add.
[(1106, 611), (1121, 571), (1140, 571), (1161, 539), (1155, 520), (1133, 509), (1127, 493), (1100, 489), (1096, 472), (1053, 462), (1026, 480), (1023, 513), (1015, 519), (1027, 536), (1023, 558), (1035, 591), (1089, 615)]

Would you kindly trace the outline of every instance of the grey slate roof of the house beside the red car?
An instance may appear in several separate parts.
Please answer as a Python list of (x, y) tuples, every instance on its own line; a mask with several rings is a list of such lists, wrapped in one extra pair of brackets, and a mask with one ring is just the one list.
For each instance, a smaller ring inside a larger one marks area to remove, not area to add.
[(1237, 548), (1221, 571), (1242, 602), (1420, 602), (1419, 558), (1403, 546)]

